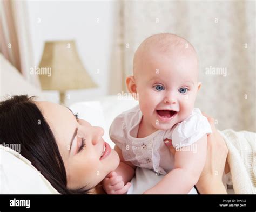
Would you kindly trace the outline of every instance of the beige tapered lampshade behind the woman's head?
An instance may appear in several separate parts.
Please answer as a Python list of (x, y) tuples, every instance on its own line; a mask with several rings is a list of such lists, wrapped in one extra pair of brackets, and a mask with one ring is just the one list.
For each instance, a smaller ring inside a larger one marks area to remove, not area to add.
[(39, 75), (45, 90), (65, 92), (97, 87), (83, 67), (73, 40), (46, 42), (39, 68), (51, 70), (51, 74)]

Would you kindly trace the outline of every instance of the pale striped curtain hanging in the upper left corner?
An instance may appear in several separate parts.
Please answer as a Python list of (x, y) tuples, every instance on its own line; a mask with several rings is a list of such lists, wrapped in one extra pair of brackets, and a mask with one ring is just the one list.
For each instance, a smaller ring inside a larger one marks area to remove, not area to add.
[(34, 64), (26, 1), (3, 0), (0, 10), (0, 51), (27, 81), (40, 87), (38, 76), (30, 74)]

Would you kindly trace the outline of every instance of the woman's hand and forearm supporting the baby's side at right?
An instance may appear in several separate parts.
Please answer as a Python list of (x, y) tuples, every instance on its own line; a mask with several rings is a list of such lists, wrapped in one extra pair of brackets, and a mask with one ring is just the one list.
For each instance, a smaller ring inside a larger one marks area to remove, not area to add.
[[(201, 194), (226, 194), (222, 176), (228, 149), (225, 141), (215, 128), (214, 119), (206, 114), (203, 115), (208, 119), (212, 133), (207, 136), (207, 158), (196, 187)], [(174, 154), (175, 149), (171, 145), (171, 140), (166, 140), (165, 144), (169, 147), (170, 152)]]

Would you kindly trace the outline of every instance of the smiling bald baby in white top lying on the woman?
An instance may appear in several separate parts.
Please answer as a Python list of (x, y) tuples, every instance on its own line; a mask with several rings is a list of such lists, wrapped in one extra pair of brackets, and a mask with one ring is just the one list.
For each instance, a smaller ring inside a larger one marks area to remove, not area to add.
[[(139, 105), (117, 116), (110, 127), (120, 165), (103, 180), (108, 194), (124, 194), (136, 167), (165, 175), (144, 194), (187, 194), (196, 185), (206, 160), (211, 126), (194, 108), (198, 82), (194, 47), (174, 34), (143, 41), (133, 59), (127, 89)], [(176, 148), (170, 154), (165, 143)]]

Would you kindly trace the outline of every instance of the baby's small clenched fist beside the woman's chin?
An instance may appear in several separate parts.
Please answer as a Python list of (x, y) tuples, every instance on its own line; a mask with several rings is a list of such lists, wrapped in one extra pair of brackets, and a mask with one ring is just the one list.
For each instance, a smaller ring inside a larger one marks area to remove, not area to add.
[(122, 176), (117, 176), (116, 172), (110, 172), (103, 180), (103, 188), (107, 194), (125, 194), (131, 183), (124, 185)]

